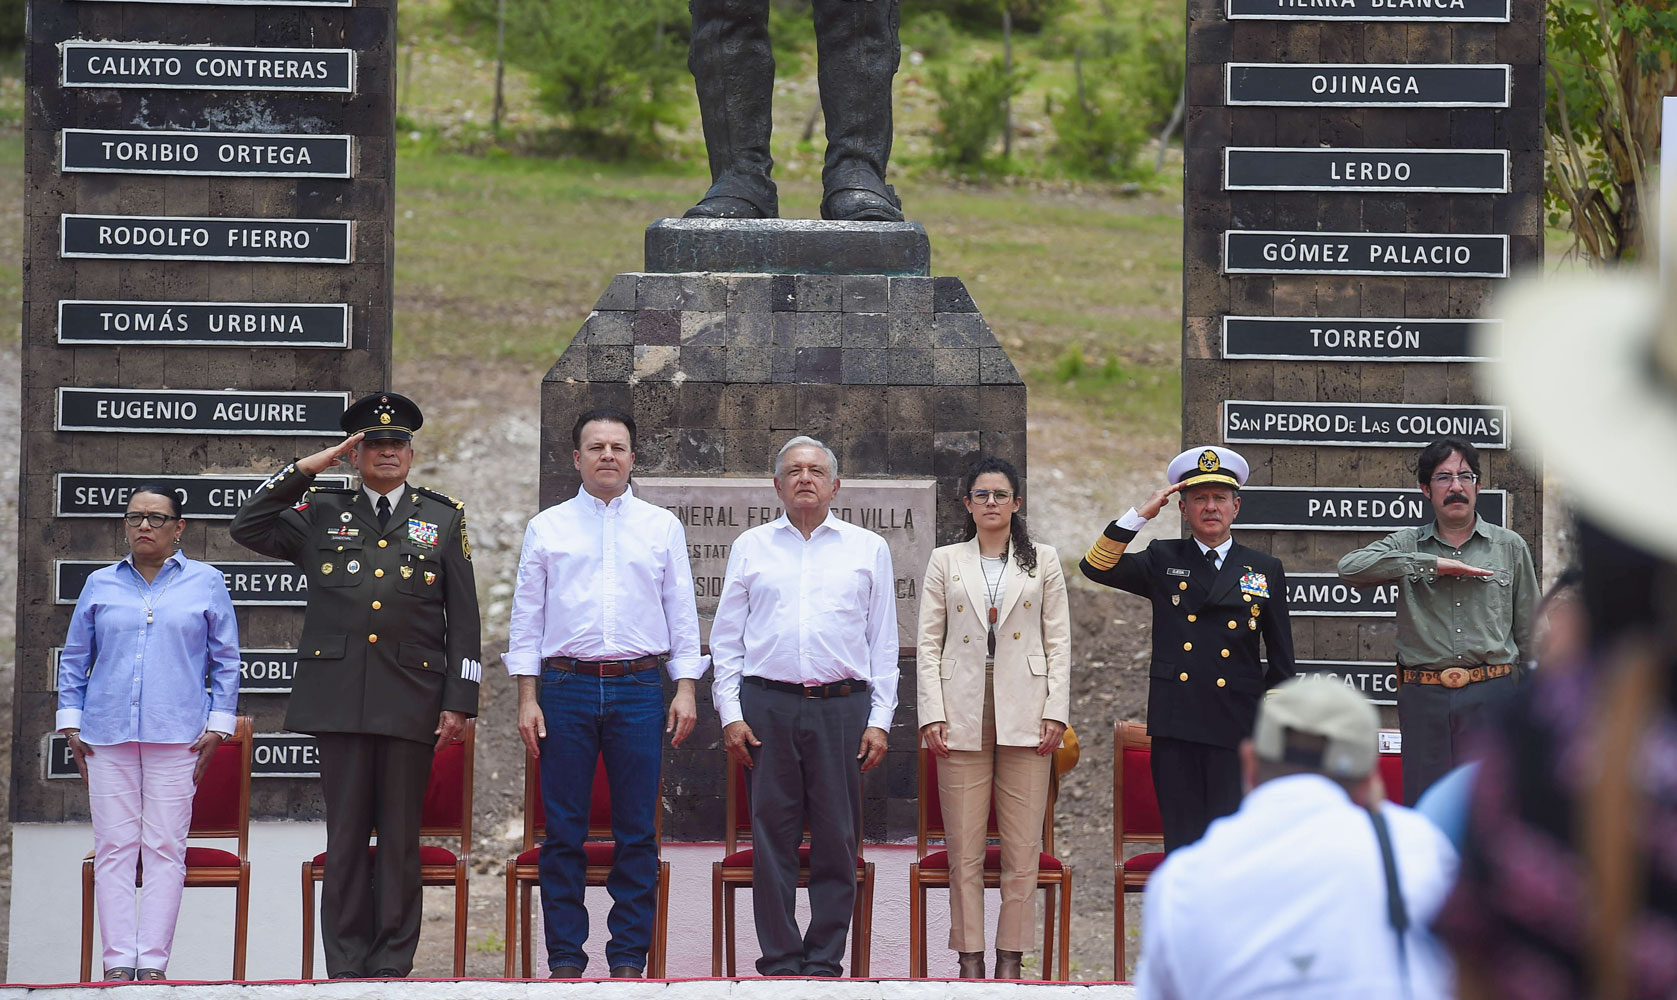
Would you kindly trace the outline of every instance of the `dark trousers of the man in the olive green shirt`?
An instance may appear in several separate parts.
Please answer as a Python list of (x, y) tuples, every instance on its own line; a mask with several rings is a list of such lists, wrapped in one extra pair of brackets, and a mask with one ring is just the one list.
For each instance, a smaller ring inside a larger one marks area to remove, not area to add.
[[(1402, 668), (1399, 668), (1402, 669)], [(1404, 730), (1404, 805), (1414, 805), (1432, 782), (1467, 762), (1472, 738), (1514, 696), (1519, 668), (1501, 678), (1446, 688), (1404, 685), (1397, 690), (1397, 725)]]

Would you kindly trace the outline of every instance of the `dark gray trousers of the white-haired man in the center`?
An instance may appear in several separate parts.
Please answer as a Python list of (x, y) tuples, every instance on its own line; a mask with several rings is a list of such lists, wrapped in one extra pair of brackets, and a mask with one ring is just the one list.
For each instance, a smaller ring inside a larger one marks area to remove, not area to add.
[[(751, 914), (761, 975), (842, 973), (862, 839), (862, 763), (855, 758), (867, 691), (803, 698), (740, 686), (740, 711), (763, 743), (751, 748)], [(810, 831), (810, 928), (795, 918), (798, 844)]]

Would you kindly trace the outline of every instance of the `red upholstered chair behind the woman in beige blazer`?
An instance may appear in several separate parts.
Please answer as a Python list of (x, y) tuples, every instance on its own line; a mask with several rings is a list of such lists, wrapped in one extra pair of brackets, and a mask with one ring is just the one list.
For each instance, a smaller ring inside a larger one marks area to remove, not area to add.
[[(1043, 891), (1043, 978), (1055, 973), (1055, 899), (1058, 898), (1060, 975), (1072, 970), (1072, 869), (1053, 854), (1053, 805), (1060, 795), (1060, 772), (1048, 768), (1048, 809), (1043, 814), (1043, 852), (1038, 859), (1036, 888)], [(937, 797), (937, 758), (919, 752), (919, 861), (909, 866), (909, 977), (926, 978), (926, 891), (949, 888), (949, 851), (931, 851), (932, 841), (944, 839), (942, 800)], [(986, 826), (989, 839), (999, 837), (996, 804), (989, 804)], [(984, 888), (1001, 888), (1001, 846), (984, 847)]]

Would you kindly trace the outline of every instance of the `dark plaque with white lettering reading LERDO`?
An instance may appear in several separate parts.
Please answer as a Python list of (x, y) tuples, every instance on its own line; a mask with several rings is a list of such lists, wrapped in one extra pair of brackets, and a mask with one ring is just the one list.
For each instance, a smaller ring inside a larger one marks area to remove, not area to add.
[(1508, 149), (1293, 149), (1229, 146), (1229, 191), (1508, 193)]

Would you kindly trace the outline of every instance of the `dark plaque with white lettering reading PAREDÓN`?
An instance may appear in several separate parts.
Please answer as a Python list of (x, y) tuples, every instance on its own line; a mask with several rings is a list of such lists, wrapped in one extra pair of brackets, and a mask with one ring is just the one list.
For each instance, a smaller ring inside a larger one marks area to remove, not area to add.
[[(1479, 490), (1479, 517), (1508, 523), (1508, 490)], [(1420, 490), (1368, 487), (1246, 487), (1239, 527), (1266, 532), (1395, 532), (1432, 520)]]

